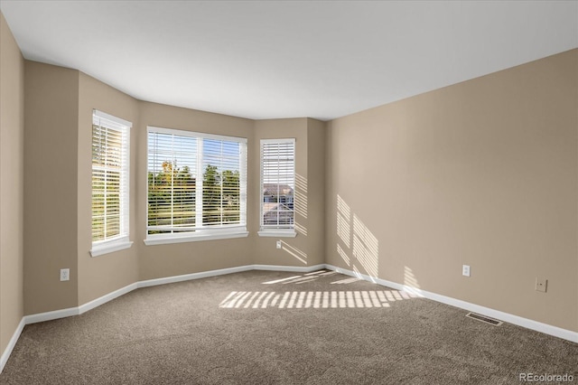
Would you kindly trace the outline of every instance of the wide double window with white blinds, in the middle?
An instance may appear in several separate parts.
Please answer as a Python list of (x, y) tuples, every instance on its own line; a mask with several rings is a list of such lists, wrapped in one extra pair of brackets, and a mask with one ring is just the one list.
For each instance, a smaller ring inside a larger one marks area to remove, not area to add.
[(148, 127), (147, 145), (146, 244), (247, 236), (247, 139)]

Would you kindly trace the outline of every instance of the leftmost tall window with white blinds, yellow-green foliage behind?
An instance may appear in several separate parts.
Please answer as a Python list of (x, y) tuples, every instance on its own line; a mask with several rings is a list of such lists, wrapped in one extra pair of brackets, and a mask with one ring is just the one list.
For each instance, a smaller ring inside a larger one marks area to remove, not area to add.
[(92, 249), (96, 257), (130, 247), (128, 241), (129, 137), (132, 123), (92, 114)]

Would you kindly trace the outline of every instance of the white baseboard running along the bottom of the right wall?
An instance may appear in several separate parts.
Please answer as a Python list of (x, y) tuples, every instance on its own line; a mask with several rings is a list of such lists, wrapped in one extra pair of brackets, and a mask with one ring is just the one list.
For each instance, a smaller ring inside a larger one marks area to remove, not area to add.
[(573, 343), (578, 343), (578, 332), (566, 330), (561, 327), (553, 326), (551, 324), (543, 324), (528, 318), (521, 317), (519, 315), (510, 315), (509, 313), (491, 309), (489, 307), (471, 304), (470, 302), (462, 301), (461, 299), (452, 298), (450, 296), (442, 296), (416, 287), (401, 285), (396, 282), (387, 281), (385, 279), (377, 277), (370, 277), (366, 274), (361, 274), (359, 272), (351, 271), (346, 268), (337, 268), (329, 264), (326, 264), (325, 268), (337, 271), (338, 273), (345, 274), (350, 277), (358, 277), (360, 279), (364, 279), (366, 281), (373, 282), (381, 286), (391, 287), (396, 290), (403, 290), (408, 293), (414, 294), (415, 296), (422, 296), (424, 298), (432, 299), (433, 301), (436, 302), (441, 302), (442, 304), (445, 305), (452, 305), (470, 312), (478, 313), (480, 315), (486, 315), (491, 318), (507, 322), (509, 324), (516, 324), (518, 326), (522, 326), (527, 329), (535, 330), (536, 332), (554, 335), (555, 337), (572, 341)]

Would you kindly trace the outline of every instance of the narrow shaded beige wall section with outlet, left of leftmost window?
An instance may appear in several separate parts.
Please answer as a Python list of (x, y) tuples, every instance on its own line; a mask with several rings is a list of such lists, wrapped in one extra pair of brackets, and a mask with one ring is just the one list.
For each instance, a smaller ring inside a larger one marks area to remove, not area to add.
[[(25, 61), (24, 313), (77, 306), (79, 71)], [(70, 268), (70, 281), (60, 269)]]

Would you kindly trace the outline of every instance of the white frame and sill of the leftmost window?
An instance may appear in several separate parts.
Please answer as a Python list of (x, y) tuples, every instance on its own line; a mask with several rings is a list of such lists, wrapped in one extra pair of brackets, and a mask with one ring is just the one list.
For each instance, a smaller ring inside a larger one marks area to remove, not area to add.
[[(117, 130), (122, 135), (121, 144), (121, 171), (120, 171), (120, 229), (116, 236), (101, 240), (92, 241), (90, 249), (91, 257), (108, 254), (122, 249), (128, 249), (133, 242), (129, 239), (130, 222), (130, 128), (133, 124), (120, 117), (114, 117), (105, 112), (93, 109), (92, 125), (104, 127), (107, 130)], [(92, 131), (92, 128), (91, 128)], [(92, 140), (91, 140), (92, 143)], [(92, 173), (96, 170), (96, 165), (92, 164)], [(102, 167), (98, 167), (102, 168)], [(92, 200), (92, 198), (91, 198)], [(90, 216), (92, 221), (92, 215)], [(106, 231), (106, 230), (105, 230)], [(92, 236), (91, 236), (92, 238)]]

